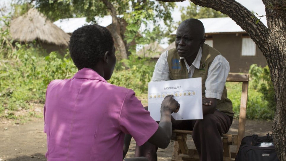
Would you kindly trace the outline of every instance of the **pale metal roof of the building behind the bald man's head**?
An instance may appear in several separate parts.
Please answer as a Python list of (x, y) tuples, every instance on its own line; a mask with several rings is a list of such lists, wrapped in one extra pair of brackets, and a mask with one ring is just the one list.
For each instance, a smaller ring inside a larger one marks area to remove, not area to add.
[[(205, 27), (205, 33), (228, 33), (228, 32), (245, 32), (239, 25), (230, 17), (218, 18), (201, 18)], [(261, 22), (267, 26), (266, 20), (261, 19)], [(255, 22), (253, 22), (255, 23)], [(173, 31), (171, 35), (176, 35), (177, 30)]]

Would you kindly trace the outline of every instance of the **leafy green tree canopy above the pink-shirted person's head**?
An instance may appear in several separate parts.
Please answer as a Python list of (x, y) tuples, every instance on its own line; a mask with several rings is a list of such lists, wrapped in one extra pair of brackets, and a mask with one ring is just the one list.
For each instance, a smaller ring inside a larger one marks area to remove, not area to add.
[[(122, 22), (118, 15), (122, 16), (127, 23), (126, 31), (119, 37), (113, 35), (116, 42), (124, 41), (122, 50), (119, 49), (121, 53), (124, 52), (123, 46), (125, 51), (135, 52), (135, 48), (130, 46), (134, 38), (136, 44), (149, 44), (152, 41), (160, 41), (173, 30), (171, 11), (175, 3), (153, 0), (30, 0), (29, 3), (34, 4), (52, 21), (86, 17), (86, 21), (97, 23), (94, 16), (111, 15), (113, 23), (120, 26)], [(168, 27), (164, 28), (162, 22)], [(122, 30), (125, 30), (125, 27), (120, 26), (120, 31)]]

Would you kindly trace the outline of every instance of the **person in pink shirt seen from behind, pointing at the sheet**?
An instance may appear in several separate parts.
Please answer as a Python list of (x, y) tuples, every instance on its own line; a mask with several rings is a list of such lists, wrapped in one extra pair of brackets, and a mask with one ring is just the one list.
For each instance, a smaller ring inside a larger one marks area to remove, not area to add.
[(87, 25), (75, 30), (70, 55), (79, 71), (71, 79), (53, 80), (46, 91), (48, 161), (122, 161), (125, 134), (138, 145), (148, 141), (160, 148), (168, 146), (171, 113), (179, 110), (179, 103), (172, 95), (164, 98), (158, 125), (133, 90), (106, 82), (116, 57), (105, 27)]

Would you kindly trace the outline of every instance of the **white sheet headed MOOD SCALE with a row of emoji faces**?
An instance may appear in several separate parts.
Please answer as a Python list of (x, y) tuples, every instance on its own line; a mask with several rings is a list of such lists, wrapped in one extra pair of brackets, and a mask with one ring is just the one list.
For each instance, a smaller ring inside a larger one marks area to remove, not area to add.
[(148, 111), (155, 121), (160, 121), (161, 103), (170, 94), (181, 105), (179, 112), (171, 114), (174, 119), (203, 119), (201, 77), (148, 83)]

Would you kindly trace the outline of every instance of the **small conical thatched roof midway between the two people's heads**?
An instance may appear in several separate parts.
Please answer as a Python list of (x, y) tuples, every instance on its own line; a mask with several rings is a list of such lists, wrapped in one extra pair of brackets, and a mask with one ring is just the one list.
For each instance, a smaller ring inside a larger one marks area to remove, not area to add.
[(139, 57), (148, 58), (159, 58), (162, 54), (163, 47), (158, 42), (152, 42), (151, 44), (145, 45), (141, 50), (137, 52)]

